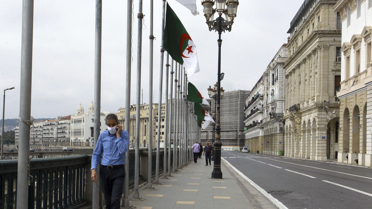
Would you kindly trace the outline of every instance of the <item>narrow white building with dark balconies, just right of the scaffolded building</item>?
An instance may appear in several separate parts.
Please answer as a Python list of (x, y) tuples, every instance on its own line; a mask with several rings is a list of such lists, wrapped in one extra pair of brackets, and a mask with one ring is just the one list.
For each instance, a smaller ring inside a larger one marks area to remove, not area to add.
[(263, 77), (254, 85), (253, 89), (247, 96), (246, 107), (244, 107), (244, 135), (245, 143), (251, 152), (263, 152)]

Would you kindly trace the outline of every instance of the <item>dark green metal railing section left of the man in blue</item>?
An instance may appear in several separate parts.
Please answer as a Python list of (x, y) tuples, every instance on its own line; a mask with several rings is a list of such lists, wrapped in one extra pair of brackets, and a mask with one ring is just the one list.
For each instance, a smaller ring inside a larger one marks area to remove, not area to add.
[[(88, 155), (30, 160), (29, 208), (69, 208), (84, 202)], [(0, 162), (0, 208), (16, 208), (17, 160)], [(32, 206), (34, 205), (34, 206)]]

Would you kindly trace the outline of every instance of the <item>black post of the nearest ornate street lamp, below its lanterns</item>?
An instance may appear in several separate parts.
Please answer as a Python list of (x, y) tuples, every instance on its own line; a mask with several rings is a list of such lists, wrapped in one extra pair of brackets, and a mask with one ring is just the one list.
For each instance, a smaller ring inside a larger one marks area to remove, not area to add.
[[(221, 17), (221, 16), (220, 16)], [(219, 29), (221, 29), (221, 23), (219, 23)], [(221, 31), (221, 30), (219, 30)], [(216, 105), (216, 133), (215, 133), (215, 142), (214, 142), (214, 163), (212, 171), (212, 179), (222, 179), (221, 171), (221, 124), (220, 124), (220, 94), (221, 94), (221, 32), (218, 32), (218, 73), (217, 73), (217, 105)]]

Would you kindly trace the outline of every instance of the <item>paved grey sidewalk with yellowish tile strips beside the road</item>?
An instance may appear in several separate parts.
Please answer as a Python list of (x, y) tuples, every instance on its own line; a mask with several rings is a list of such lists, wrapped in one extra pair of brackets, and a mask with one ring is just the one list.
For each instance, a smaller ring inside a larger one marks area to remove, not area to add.
[[(221, 166), (223, 179), (212, 179), (212, 165), (205, 166), (205, 158), (198, 163), (190, 163), (168, 179), (161, 179), (162, 185), (154, 185), (154, 190), (140, 187), (140, 197), (144, 201), (130, 201), (137, 209), (240, 209), (253, 208), (246, 195), (232, 179), (224, 165)], [(131, 194), (129, 194), (131, 197)]]

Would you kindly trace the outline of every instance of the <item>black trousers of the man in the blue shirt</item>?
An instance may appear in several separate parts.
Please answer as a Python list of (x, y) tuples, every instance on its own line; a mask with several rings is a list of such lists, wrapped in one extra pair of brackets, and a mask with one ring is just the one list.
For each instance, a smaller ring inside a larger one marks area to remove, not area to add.
[(99, 175), (106, 209), (120, 209), (120, 198), (123, 194), (125, 178), (124, 165), (114, 169), (108, 169), (107, 166), (101, 165)]

